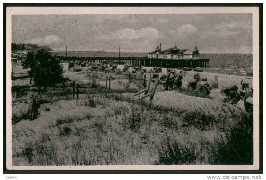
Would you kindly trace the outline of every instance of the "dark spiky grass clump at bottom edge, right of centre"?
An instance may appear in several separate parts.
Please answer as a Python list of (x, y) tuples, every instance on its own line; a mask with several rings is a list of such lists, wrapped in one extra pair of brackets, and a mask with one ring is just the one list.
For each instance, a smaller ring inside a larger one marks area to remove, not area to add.
[(192, 164), (198, 157), (194, 145), (187, 144), (185, 147), (180, 147), (176, 141), (171, 142), (169, 137), (166, 147), (162, 144), (161, 149), (158, 148), (158, 155), (159, 161), (155, 161), (155, 165)]

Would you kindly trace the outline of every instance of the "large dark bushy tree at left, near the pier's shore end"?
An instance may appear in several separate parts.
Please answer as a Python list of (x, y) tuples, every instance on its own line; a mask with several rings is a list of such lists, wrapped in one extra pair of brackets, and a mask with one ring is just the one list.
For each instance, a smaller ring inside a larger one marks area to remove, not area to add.
[(45, 49), (28, 52), (22, 66), (24, 69), (30, 68), (29, 76), (38, 87), (46, 88), (63, 81), (63, 70), (59, 60)]

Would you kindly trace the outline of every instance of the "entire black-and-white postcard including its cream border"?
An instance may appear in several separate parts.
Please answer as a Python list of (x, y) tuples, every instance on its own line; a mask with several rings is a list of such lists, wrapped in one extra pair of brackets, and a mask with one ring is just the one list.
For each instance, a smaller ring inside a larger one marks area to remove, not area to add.
[(9, 169), (258, 169), (255, 7), (7, 17)]

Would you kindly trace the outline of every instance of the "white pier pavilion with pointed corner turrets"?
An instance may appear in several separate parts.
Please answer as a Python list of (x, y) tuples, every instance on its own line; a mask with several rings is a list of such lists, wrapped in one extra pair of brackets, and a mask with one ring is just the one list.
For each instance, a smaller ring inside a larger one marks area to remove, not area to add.
[(148, 59), (199, 59), (199, 52), (196, 44), (193, 52), (189, 49), (177, 49), (176, 43), (173, 48), (161, 51), (157, 44), (155, 51), (148, 53)]

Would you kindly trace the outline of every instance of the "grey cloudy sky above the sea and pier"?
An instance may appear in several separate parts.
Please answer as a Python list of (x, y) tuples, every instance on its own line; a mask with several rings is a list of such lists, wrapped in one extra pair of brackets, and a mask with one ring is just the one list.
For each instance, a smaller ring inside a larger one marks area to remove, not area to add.
[(53, 50), (252, 54), (252, 14), (12, 15), (12, 42)]

